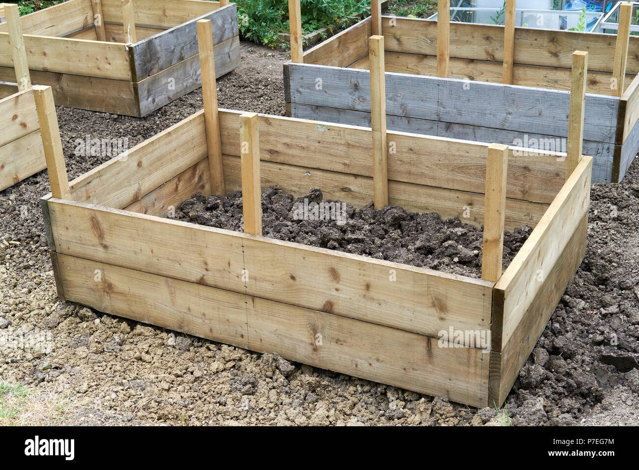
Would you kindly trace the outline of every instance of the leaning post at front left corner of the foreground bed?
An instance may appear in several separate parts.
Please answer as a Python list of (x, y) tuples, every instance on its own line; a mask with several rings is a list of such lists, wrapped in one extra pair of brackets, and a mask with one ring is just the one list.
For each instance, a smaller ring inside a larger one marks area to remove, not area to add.
[(62, 152), (53, 91), (50, 86), (36, 85), (33, 87), (33, 97), (38, 111), (38, 121), (40, 121), (40, 134), (42, 134), (42, 146), (49, 170), (51, 194), (54, 198), (70, 199), (69, 180), (66, 175), (65, 155)]

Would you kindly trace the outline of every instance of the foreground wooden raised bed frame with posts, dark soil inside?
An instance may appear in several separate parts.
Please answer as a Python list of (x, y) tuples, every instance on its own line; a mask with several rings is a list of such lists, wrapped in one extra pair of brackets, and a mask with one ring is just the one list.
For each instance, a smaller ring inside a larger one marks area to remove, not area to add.
[[(592, 158), (516, 157), (504, 145), (218, 110), (211, 56), (201, 54), (204, 111), (70, 184), (61, 153), (49, 161), (52, 194), (42, 208), (59, 297), (476, 407), (501, 405), (583, 259)], [(384, 138), (396, 153), (381, 151)], [(483, 279), (262, 237), (259, 187), (275, 184), (486, 224)], [(164, 218), (195, 192), (235, 189), (246, 233)], [(502, 274), (504, 226), (523, 224), (532, 235)], [(450, 329), (491, 341), (440, 345)]]

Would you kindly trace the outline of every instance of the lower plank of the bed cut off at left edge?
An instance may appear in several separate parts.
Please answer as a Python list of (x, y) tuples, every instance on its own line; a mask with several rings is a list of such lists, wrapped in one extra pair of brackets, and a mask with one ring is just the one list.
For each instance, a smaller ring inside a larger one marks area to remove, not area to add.
[(47, 168), (40, 130), (0, 147), (0, 191)]

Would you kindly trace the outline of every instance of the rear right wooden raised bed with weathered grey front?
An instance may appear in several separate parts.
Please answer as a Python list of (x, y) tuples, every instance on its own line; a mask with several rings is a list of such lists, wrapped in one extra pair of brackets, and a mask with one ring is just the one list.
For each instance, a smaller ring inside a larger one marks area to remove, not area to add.
[[(509, 27), (449, 24), (448, 11), (443, 8), (438, 23), (381, 16), (373, 8), (374, 20), (304, 53), (295, 39), (299, 19), (291, 23), (293, 60), (284, 65), (289, 115), (370, 125), (367, 39), (381, 34), (389, 129), (533, 148), (544, 142), (565, 152), (571, 54), (588, 51), (583, 152), (594, 158), (594, 182), (624, 177), (639, 150), (639, 38), (628, 42), (624, 28), (617, 41), (615, 35), (515, 28), (514, 20)], [(629, 21), (628, 13), (624, 24)]]

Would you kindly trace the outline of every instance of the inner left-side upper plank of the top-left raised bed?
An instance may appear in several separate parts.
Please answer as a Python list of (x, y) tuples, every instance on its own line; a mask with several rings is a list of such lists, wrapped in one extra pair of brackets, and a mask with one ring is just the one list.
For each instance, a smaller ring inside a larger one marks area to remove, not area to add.
[[(93, 8), (91, 0), (70, 0), (24, 15), (20, 22), (25, 35), (62, 36), (92, 24)], [(6, 23), (0, 24), (0, 31), (8, 31)]]

